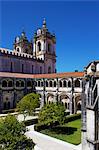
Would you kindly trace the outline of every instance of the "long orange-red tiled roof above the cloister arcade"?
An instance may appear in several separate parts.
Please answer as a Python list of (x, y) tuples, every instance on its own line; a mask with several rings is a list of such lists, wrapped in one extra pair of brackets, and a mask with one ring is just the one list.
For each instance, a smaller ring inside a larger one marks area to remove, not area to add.
[(64, 77), (83, 77), (83, 72), (64, 72), (52, 74), (22, 74), (22, 73), (9, 73), (0, 72), (0, 77), (14, 77), (14, 78), (64, 78)]

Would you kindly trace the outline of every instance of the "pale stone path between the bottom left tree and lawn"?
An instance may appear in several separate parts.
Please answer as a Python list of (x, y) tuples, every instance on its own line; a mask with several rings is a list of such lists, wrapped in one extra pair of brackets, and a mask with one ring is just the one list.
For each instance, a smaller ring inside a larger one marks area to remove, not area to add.
[(26, 136), (36, 143), (34, 150), (81, 150), (81, 144), (75, 146), (73, 144), (58, 140), (56, 138), (44, 135), (34, 131), (34, 125), (28, 126)]

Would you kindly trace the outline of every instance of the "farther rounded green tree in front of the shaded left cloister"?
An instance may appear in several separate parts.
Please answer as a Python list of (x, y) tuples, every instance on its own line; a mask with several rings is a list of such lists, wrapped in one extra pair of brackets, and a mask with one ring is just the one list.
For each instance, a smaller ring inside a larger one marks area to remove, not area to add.
[(23, 113), (24, 120), (26, 115), (34, 115), (35, 109), (39, 107), (40, 100), (39, 94), (30, 93), (24, 96), (18, 103), (17, 109), (20, 113)]

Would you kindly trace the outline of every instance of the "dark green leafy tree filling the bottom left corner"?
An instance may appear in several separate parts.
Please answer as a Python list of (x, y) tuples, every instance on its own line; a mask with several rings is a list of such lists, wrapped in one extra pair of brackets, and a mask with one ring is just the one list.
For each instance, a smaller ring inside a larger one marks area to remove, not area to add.
[(32, 150), (34, 143), (24, 135), (26, 127), (15, 116), (7, 116), (0, 122), (0, 149)]

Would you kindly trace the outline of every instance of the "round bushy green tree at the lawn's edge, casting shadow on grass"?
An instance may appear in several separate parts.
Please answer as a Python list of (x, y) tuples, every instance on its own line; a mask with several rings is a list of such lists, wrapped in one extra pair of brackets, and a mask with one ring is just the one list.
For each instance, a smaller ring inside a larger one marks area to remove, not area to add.
[(56, 123), (62, 124), (64, 116), (65, 108), (62, 104), (46, 104), (39, 113), (38, 123), (52, 128)]

